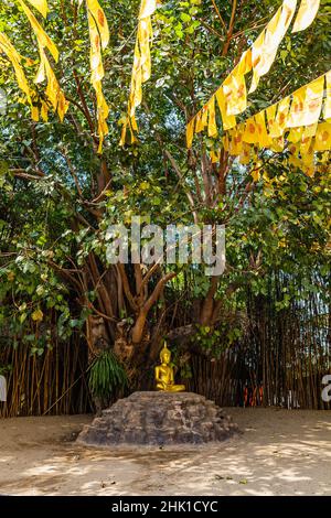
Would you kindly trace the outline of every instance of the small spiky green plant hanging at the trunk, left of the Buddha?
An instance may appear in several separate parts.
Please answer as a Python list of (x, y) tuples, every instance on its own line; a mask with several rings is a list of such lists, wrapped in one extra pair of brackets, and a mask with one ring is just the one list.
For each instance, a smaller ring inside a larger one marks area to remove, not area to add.
[(94, 397), (108, 399), (117, 389), (125, 388), (128, 378), (124, 366), (113, 350), (104, 350), (89, 369), (89, 390)]

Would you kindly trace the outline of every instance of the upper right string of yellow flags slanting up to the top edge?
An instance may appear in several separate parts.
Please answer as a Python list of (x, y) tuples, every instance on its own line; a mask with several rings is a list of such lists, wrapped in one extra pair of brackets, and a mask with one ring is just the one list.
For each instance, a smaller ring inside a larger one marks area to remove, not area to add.
[[(314, 20), (319, 0), (301, 0), (292, 32), (307, 29)], [(221, 87), (211, 97), (205, 106), (190, 120), (186, 126), (186, 144), (192, 147), (195, 133), (207, 129), (209, 137), (217, 137), (215, 106), (218, 106), (223, 130), (229, 130), (236, 125), (236, 116), (247, 108), (247, 87), (245, 75), (253, 72), (253, 79), (248, 90), (256, 90), (260, 77), (266, 75), (277, 55), (278, 47), (284, 40), (295, 17), (297, 0), (284, 0), (273, 19), (258, 35), (252, 47), (244, 52), (238, 64), (223, 82)]]

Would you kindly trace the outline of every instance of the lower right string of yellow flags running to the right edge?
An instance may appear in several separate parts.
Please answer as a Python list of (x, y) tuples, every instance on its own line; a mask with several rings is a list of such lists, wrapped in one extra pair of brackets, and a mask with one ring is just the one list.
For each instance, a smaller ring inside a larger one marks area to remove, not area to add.
[[(242, 164), (256, 158), (259, 149), (288, 148), (290, 163), (300, 163), (311, 176), (314, 152), (327, 152), (327, 160), (331, 149), (331, 71), (226, 131), (222, 145)], [(211, 159), (217, 162), (220, 152), (212, 151)]]

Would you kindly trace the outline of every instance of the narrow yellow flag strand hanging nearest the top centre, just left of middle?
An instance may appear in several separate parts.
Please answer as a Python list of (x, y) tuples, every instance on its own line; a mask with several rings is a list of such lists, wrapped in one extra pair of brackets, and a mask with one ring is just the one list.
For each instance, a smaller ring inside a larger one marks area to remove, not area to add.
[(151, 17), (157, 10), (157, 0), (142, 0), (138, 19), (138, 32), (135, 47), (134, 67), (127, 116), (124, 118), (120, 145), (125, 145), (127, 131), (130, 132), (131, 143), (136, 142), (135, 131), (138, 131), (136, 109), (142, 101), (142, 84), (151, 75), (150, 46), (153, 39)]

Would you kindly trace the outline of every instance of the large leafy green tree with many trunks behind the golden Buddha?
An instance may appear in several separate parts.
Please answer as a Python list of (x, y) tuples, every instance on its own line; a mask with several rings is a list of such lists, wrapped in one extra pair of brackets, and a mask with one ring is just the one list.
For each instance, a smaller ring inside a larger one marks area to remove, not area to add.
[[(275, 14), (275, 2), (161, 2), (152, 17), (152, 75), (137, 105), (139, 133), (130, 127), (120, 144), (139, 4), (17, 1), (0, 8), (6, 319), (23, 326), (28, 316), (42, 322), (55, 307), (63, 328), (81, 327), (92, 353), (114, 346), (128, 369), (153, 363), (170, 328), (173, 337), (207, 328), (221, 339), (217, 330), (247, 283), (263, 290), (269, 268), (293, 271), (302, 256), (307, 270), (324, 265), (330, 242), (330, 184), (322, 171), (305, 175), (288, 163), (286, 149), (265, 150), (243, 165), (203, 133), (186, 149), (188, 122)], [(325, 72), (327, 9), (321, 1), (311, 28), (285, 35), (243, 120)], [(109, 265), (107, 228), (129, 226), (137, 215), (164, 227), (226, 225), (224, 274)], [(181, 303), (192, 309), (189, 322), (169, 316)]]

